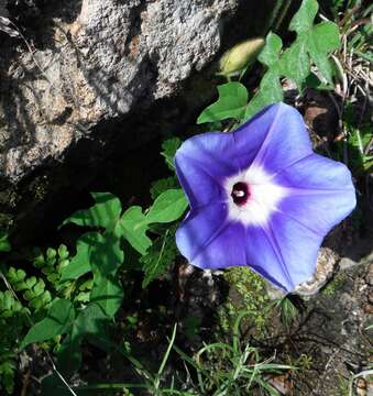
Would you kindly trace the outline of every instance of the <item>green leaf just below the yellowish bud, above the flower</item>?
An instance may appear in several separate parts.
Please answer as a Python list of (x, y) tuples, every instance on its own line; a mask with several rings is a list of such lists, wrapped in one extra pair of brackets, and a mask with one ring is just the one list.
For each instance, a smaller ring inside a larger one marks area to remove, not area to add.
[(197, 123), (216, 122), (226, 119), (241, 120), (248, 105), (248, 90), (241, 82), (231, 81), (218, 86), (219, 99), (205, 109)]

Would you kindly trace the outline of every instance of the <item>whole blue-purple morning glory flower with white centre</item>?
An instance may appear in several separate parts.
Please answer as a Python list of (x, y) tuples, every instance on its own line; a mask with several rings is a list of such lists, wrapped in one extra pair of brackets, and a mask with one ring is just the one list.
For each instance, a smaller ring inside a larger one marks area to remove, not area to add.
[(187, 140), (175, 165), (190, 206), (176, 244), (189, 263), (250, 266), (287, 292), (312, 277), (323, 237), (355, 207), (349, 169), (312, 152), (284, 103)]

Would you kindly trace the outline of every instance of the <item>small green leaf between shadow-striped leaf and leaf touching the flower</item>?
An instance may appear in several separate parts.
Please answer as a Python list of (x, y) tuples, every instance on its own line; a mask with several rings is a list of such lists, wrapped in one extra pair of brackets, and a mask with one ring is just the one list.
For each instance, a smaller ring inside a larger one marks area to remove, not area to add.
[(147, 238), (149, 223), (141, 207), (133, 206), (125, 210), (121, 220), (122, 235), (140, 254), (145, 254), (152, 241)]

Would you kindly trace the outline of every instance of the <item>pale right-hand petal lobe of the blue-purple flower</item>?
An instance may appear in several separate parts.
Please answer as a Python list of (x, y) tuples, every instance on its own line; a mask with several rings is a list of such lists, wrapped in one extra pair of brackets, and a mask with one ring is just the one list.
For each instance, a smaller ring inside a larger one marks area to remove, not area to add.
[(356, 205), (350, 170), (341, 163), (312, 154), (275, 178), (287, 195), (277, 210), (325, 237)]

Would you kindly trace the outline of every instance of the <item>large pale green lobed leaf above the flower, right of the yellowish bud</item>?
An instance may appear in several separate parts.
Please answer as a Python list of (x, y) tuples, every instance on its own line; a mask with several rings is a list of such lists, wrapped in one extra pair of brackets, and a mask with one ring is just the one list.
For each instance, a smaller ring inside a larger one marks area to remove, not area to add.
[(321, 22), (314, 25), (317, 11), (318, 3), (316, 0), (303, 1), (290, 22), (290, 30), (297, 33), (297, 38), (283, 54), (281, 54), (281, 38), (274, 33), (266, 36), (266, 43), (259, 61), (267, 67), (267, 72), (260, 84), (260, 89), (246, 107), (244, 121), (265, 106), (284, 99), (281, 77), (284, 76), (294, 80), (301, 91), (310, 75), (311, 62), (317, 66), (329, 86), (332, 86), (332, 67), (329, 62), (329, 53), (340, 45), (339, 31), (332, 22)]

